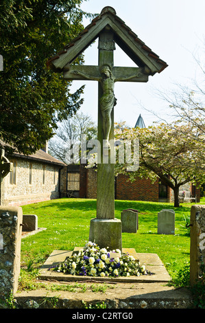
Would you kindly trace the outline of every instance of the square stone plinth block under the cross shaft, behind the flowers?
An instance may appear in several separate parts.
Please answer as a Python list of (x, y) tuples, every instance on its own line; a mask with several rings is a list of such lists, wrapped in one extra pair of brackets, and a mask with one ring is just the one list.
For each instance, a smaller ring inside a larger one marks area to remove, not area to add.
[(92, 219), (89, 241), (97, 243), (100, 248), (122, 249), (122, 226), (119, 219)]

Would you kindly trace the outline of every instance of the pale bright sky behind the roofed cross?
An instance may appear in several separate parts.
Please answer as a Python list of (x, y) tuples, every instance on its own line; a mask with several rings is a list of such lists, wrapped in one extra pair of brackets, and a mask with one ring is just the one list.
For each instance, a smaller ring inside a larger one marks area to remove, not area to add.
[[(114, 121), (125, 121), (129, 126), (134, 126), (141, 113), (145, 126), (149, 126), (157, 118), (145, 109), (154, 110), (169, 121), (169, 104), (156, 96), (156, 89), (169, 92), (176, 88), (175, 84), (192, 86), (197, 73), (193, 54), (204, 53), (205, 0), (88, 0), (81, 8), (100, 14), (107, 5), (114, 8), (117, 16), (138, 38), (169, 65), (160, 74), (149, 76), (147, 83), (115, 83), (117, 105), (114, 107)], [(84, 27), (89, 23), (89, 20), (85, 20)], [(85, 65), (97, 65), (97, 41), (84, 54)], [(200, 58), (203, 59), (202, 56)], [(114, 51), (114, 66), (136, 67), (119, 47)], [(97, 121), (97, 82), (73, 81), (71, 91), (83, 84), (86, 89), (80, 111)]]

